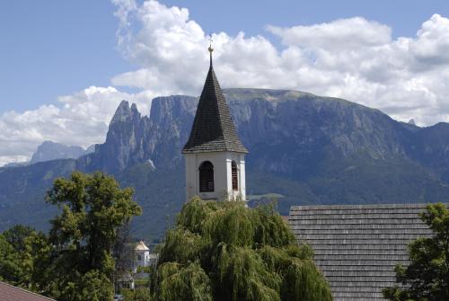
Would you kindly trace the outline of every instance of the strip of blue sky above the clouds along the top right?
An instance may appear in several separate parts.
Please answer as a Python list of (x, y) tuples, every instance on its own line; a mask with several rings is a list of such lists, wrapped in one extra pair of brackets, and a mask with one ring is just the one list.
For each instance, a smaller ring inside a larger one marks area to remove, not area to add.
[(209, 31), (261, 33), (265, 25), (293, 26), (363, 16), (392, 26), (393, 35), (414, 35), (434, 13), (449, 13), (448, 1), (280, 0), (163, 1), (189, 7), (192, 19)]

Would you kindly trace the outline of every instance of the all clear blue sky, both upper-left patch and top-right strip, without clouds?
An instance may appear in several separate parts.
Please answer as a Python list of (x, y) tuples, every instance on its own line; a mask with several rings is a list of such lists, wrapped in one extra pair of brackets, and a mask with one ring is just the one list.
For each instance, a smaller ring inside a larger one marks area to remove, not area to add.
[[(139, 1), (140, 3), (142, 1)], [(266, 34), (265, 26), (293, 26), (363, 16), (413, 36), (449, 1), (162, 1), (189, 8), (207, 32)], [(57, 96), (110, 78), (132, 66), (116, 49), (114, 4), (109, 1), (4, 1), (0, 4), (0, 113), (57, 103)], [(278, 39), (272, 37), (278, 46)]]

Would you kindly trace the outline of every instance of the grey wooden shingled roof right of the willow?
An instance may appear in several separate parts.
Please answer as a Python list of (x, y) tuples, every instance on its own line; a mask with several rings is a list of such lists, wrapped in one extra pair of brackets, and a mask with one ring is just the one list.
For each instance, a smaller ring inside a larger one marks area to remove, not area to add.
[(334, 300), (382, 300), (394, 266), (408, 264), (407, 245), (432, 235), (418, 217), (425, 204), (294, 206), (288, 223), (312, 245)]

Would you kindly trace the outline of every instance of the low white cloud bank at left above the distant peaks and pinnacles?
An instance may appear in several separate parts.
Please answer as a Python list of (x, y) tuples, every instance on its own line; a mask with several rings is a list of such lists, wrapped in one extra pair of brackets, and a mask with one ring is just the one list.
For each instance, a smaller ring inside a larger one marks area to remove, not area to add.
[(45, 140), (84, 147), (101, 143), (119, 102), (124, 99), (135, 102), (139, 111), (147, 113), (153, 96), (146, 92), (129, 94), (114, 87), (91, 86), (59, 97), (59, 106), (43, 105), (33, 111), (5, 112), (0, 115), (0, 166), (28, 160)]

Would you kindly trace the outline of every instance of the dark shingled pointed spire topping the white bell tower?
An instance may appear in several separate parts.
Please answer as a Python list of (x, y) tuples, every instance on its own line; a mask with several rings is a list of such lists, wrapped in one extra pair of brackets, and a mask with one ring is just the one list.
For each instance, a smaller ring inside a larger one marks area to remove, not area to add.
[(193, 120), (189, 141), (183, 154), (203, 152), (248, 153), (233, 126), (225, 96), (212, 66), (212, 47), (209, 47), (210, 66), (203, 92), (199, 97), (197, 114)]

